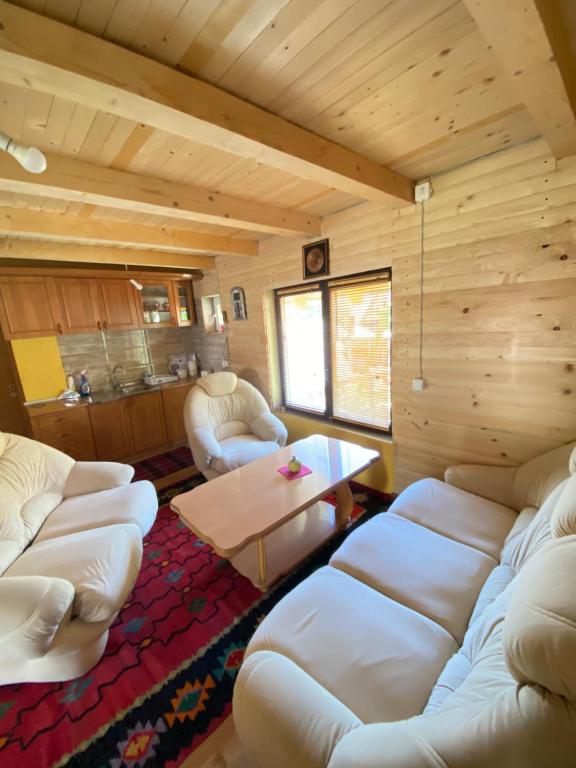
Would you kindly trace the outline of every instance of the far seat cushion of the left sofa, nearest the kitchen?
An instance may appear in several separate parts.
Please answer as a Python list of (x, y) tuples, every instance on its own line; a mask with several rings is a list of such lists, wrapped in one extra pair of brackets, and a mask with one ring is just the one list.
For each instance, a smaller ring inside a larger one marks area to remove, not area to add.
[(156, 490), (147, 480), (109, 491), (73, 496), (59, 504), (48, 517), (34, 545), (58, 536), (118, 523), (133, 523), (145, 536), (152, 527), (157, 509)]

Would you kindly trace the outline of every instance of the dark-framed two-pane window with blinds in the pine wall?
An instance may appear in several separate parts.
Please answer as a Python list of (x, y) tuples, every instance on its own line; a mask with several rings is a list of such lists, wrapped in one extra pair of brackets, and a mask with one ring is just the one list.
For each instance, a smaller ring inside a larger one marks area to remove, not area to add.
[(390, 270), (276, 291), (284, 407), (389, 431)]

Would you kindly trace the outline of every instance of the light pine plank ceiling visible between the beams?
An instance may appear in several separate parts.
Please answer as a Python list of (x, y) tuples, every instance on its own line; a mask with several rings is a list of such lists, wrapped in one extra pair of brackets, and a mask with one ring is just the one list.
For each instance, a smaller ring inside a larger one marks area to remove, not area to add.
[[(12, 5), (193, 75), (418, 180), (541, 133), (473, 19), (472, 3), (15, 0)], [(314, 221), (363, 200), (256, 159), (10, 82), (0, 82), (0, 131), (50, 156), (290, 209)], [(223, 227), (176, 219), (160, 215), (160, 209), (151, 213), (42, 194), (41, 186), (37, 194), (9, 185), (2, 190), (5, 221), (10, 211), (29, 209), (74, 218), (77, 231), (81, 220), (233, 241), (270, 236), (249, 223)], [(31, 231), (32, 222), (37, 226), (40, 220), (30, 220)], [(312, 237), (314, 227), (308, 231)], [(23, 234), (30, 233), (24, 228)], [(154, 243), (142, 247), (161, 249)]]

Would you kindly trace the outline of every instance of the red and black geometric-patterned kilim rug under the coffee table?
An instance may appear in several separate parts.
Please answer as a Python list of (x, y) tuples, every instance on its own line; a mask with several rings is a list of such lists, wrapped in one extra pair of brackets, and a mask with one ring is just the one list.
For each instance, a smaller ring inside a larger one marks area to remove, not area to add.
[[(67, 683), (0, 687), (4, 768), (175, 768), (230, 714), (246, 644), (276, 602), (346, 534), (263, 595), (193, 536), (166, 489), (142, 570), (106, 652)], [(355, 486), (355, 527), (389, 501)]]

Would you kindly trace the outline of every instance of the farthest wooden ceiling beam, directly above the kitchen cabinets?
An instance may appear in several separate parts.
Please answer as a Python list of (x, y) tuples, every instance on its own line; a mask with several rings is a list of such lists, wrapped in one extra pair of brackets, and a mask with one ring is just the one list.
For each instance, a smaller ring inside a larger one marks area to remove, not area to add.
[(10, 238), (0, 240), (0, 259), (74, 262), (86, 264), (87, 268), (91, 264), (128, 264), (185, 271), (214, 269), (214, 258), (211, 256)]

